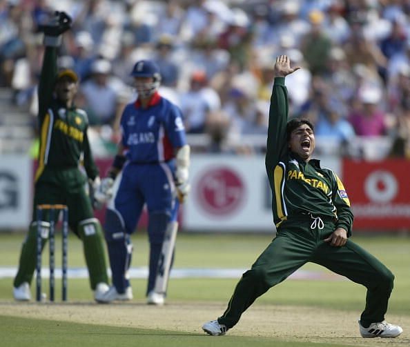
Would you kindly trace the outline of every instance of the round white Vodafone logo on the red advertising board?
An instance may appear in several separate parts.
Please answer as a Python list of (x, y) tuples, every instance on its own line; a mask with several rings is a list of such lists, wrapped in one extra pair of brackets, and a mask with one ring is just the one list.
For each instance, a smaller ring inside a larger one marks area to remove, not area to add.
[(364, 181), (364, 192), (373, 202), (387, 203), (393, 200), (398, 193), (397, 179), (389, 171), (371, 172)]

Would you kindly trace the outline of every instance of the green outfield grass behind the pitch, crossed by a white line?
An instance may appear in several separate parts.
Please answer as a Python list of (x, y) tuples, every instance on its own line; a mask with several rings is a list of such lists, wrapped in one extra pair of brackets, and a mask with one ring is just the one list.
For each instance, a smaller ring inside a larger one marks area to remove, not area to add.
[[(257, 255), (271, 241), (271, 235), (220, 235), (181, 233), (177, 239), (175, 268), (243, 268), (247, 269)], [(0, 233), (0, 266), (16, 266), (21, 234)], [(389, 312), (410, 315), (410, 238), (409, 237), (353, 237), (396, 275), (395, 288), (389, 302)], [(57, 248), (59, 246), (57, 239)], [(148, 241), (144, 232), (133, 235), (133, 266), (147, 266)], [(43, 255), (44, 266), (47, 256)], [(59, 253), (56, 255), (59, 266)], [(84, 267), (81, 242), (74, 236), (69, 239), (68, 264)], [(328, 272), (316, 264), (306, 264), (303, 269)], [(204, 285), (204, 282), (206, 285)], [(237, 279), (172, 279), (168, 287), (170, 297), (181, 300), (227, 301)], [(144, 297), (146, 279), (132, 279), (135, 297)], [(46, 286), (47, 283), (44, 283)], [(0, 299), (10, 299), (12, 279), (0, 279)], [(210, 290), (212, 288), (212, 290)], [(59, 293), (59, 281), (57, 281)], [(318, 295), (318, 293), (320, 295)], [(90, 299), (88, 280), (70, 279), (70, 298)], [(262, 303), (310, 305), (318, 307), (356, 310), (364, 304), (364, 287), (351, 281), (288, 280), (258, 299)], [(338, 297), (337, 303), (334, 298)]]

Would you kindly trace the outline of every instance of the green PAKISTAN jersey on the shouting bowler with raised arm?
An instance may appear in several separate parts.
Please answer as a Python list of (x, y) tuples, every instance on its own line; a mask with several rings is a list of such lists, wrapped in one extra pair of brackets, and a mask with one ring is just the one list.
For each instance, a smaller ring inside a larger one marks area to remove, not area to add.
[(286, 139), (288, 112), (284, 77), (275, 78), (265, 161), (275, 225), (279, 227), (282, 221), (302, 214), (333, 218), (336, 228), (346, 229), (350, 236), (353, 214), (342, 181), (332, 170), (321, 168), (320, 161), (305, 162), (289, 150)]

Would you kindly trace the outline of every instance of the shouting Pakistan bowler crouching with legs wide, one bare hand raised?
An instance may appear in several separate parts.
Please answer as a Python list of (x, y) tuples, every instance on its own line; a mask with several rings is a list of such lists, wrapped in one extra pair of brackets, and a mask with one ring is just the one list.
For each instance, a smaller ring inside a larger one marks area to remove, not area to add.
[(393, 274), (348, 239), (353, 224), (349, 198), (335, 172), (311, 159), (313, 125), (306, 119), (288, 121), (284, 81), (298, 69), (291, 68), (289, 57), (277, 57), (265, 161), (277, 235), (244, 273), (224, 314), (202, 329), (224, 335), (257, 297), (310, 261), (367, 288), (359, 321), (362, 337), (397, 337), (402, 328), (384, 320)]

